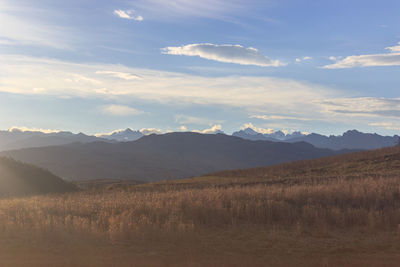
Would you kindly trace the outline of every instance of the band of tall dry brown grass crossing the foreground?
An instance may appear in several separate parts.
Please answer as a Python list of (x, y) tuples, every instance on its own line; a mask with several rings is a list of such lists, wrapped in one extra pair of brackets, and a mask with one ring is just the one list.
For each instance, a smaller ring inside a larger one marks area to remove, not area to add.
[(174, 190), (111, 190), (0, 200), (0, 233), (68, 232), (129, 240), (154, 231), (239, 226), (398, 231), (400, 179)]

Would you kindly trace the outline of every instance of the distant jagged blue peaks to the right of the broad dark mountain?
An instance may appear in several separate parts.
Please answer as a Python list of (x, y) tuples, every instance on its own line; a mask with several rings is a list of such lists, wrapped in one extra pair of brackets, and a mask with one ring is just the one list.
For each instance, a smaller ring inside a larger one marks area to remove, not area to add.
[[(274, 142), (307, 142), (319, 148), (329, 148), (332, 150), (341, 149), (361, 149), (372, 150), (383, 147), (391, 147), (397, 144), (399, 136), (381, 136), (378, 134), (362, 133), (357, 130), (345, 132), (339, 136), (325, 136), (312, 133), (309, 135), (294, 132), (290, 135), (282, 136), (282, 133), (277, 135), (261, 134), (252, 129), (245, 129), (233, 133), (233, 136), (241, 137), (248, 140), (268, 140)], [(279, 139), (278, 139), (279, 138)]]

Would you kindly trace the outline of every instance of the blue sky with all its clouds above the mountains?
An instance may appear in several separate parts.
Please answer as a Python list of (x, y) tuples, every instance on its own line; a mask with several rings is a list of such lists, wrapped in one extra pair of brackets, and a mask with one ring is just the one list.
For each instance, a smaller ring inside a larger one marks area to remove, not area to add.
[(0, 129), (400, 131), (397, 0), (0, 0)]

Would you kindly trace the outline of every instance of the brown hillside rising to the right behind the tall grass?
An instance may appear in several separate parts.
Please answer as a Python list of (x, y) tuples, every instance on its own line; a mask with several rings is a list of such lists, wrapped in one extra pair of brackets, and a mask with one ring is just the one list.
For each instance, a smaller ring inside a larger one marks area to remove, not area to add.
[(151, 189), (160, 187), (225, 188), (257, 185), (305, 185), (311, 188), (315, 185), (329, 185), (341, 181), (347, 183), (386, 178), (400, 180), (400, 146), (266, 167), (219, 171), (194, 178), (146, 184), (140, 186), (140, 189), (146, 189), (146, 187)]

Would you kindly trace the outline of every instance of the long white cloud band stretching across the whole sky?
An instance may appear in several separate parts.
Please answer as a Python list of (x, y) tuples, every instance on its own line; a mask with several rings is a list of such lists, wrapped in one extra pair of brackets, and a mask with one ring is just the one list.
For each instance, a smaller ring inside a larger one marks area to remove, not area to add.
[[(96, 74), (99, 70), (134, 73), (141, 79), (116, 79), (111, 75)], [(0, 79), (0, 92), (14, 94), (101, 98), (118, 103), (141, 101), (181, 107), (225, 106), (249, 114), (275, 116), (264, 117), (266, 119), (293, 119), (279, 128), (304, 128), (301, 123), (308, 119), (368, 125), (375, 120), (400, 116), (400, 99), (354, 98), (317, 84), (271, 77), (203, 77), (121, 65), (0, 55)], [(279, 114), (276, 114), (277, 110)], [(175, 119), (182, 125), (189, 122), (210, 126), (223, 123), (182, 115)], [(278, 128), (273, 124), (269, 127)]]

